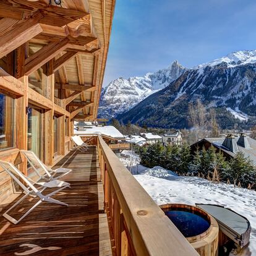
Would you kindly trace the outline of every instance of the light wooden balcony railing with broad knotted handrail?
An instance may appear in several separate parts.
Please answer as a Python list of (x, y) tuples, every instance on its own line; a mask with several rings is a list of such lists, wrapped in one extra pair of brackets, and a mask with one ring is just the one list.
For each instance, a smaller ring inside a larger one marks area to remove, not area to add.
[(97, 147), (116, 255), (198, 255), (100, 135)]

